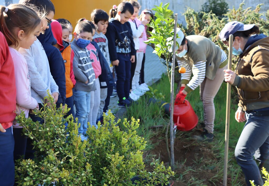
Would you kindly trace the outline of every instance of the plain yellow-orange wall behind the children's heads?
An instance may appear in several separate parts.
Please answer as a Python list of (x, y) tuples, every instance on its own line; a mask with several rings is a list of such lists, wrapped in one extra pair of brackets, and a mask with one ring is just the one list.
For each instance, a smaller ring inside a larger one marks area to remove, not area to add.
[(91, 19), (91, 12), (95, 9), (103, 9), (109, 14), (113, 5), (118, 5), (121, 0), (51, 0), (55, 6), (54, 19), (68, 19), (73, 28), (77, 20), (85, 17)]

